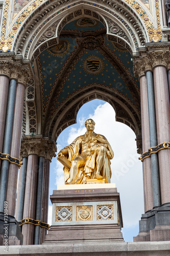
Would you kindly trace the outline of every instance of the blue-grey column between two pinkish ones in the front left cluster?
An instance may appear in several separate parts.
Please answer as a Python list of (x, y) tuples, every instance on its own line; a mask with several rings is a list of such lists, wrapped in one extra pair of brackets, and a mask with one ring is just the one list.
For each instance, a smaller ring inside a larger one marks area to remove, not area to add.
[[(10, 154), (15, 95), (16, 95), (16, 80), (12, 79), (10, 81), (9, 94), (8, 94), (7, 116), (6, 116), (6, 125), (5, 125), (4, 145), (3, 145), (3, 152), (2, 152), (4, 154)], [(0, 184), (0, 211), (2, 212), (4, 211), (4, 201), (6, 201), (8, 167), (9, 167), (9, 161), (4, 160), (1, 165), (1, 184)]]

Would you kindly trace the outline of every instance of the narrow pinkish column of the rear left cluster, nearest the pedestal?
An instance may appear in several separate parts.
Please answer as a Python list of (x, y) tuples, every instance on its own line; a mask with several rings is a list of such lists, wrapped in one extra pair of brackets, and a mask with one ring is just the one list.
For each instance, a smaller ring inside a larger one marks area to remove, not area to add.
[[(49, 185), (50, 185), (50, 160), (44, 161), (44, 179), (43, 179), (43, 194), (42, 194), (42, 222), (48, 221), (48, 200), (49, 200)], [(44, 242), (45, 235), (47, 234), (46, 228), (41, 228), (41, 244)]]

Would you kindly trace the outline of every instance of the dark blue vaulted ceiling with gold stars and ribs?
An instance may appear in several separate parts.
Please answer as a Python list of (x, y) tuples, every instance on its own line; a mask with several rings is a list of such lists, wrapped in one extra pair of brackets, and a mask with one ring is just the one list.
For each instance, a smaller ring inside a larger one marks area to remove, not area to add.
[[(81, 47), (79, 38), (69, 36), (68, 33), (68, 31), (93, 33), (103, 28), (103, 24), (94, 19), (74, 20), (64, 27), (64, 36), (60, 35), (59, 44), (46, 49), (37, 58), (43, 119), (50, 102), (53, 103), (54, 109), (57, 109), (67, 97), (94, 83), (114, 89), (135, 105), (133, 93), (125, 81), (126, 73), (139, 91), (139, 82), (134, 78), (132, 56), (129, 51), (109, 41), (106, 34), (102, 35), (102, 48), (84, 49)], [(115, 61), (110, 60), (110, 54), (113, 55), (119, 68), (114, 65)], [(119, 72), (120, 69), (124, 72)], [(58, 91), (53, 100), (55, 90)]]

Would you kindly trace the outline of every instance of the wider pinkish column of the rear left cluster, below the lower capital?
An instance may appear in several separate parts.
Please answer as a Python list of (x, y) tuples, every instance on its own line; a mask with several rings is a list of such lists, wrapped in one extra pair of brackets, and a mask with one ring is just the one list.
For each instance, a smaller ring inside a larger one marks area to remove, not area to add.
[[(23, 219), (32, 218), (35, 220), (36, 210), (36, 193), (37, 193), (37, 173), (38, 173), (38, 156), (35, 154), (28, 156), (27, 178), (25, 202), (23, 209)], [(23, 245), (34, 244), (34, 229), (33, 224), (23, 224)]]

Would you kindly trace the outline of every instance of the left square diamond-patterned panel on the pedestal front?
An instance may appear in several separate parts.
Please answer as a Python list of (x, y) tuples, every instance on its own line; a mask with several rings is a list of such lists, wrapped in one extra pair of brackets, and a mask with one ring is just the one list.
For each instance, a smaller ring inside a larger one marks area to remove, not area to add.
[(56, 206), (56, 222), (72, 221), (72, 206)]

